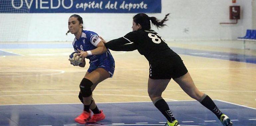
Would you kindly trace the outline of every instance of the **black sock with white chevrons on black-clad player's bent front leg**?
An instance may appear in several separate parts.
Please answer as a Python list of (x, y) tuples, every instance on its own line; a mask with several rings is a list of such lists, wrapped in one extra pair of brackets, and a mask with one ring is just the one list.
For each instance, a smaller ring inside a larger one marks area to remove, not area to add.
[(157, 107), (157, 109), (159, 111), (162, 112), (162, 114), (166, 117), (166, 119), (169, 122), (173, 122), (175, 120), (168, 104), (166, 103), (166, 101), (164, 99), (160, 99), (155, 103), (155, 106)]

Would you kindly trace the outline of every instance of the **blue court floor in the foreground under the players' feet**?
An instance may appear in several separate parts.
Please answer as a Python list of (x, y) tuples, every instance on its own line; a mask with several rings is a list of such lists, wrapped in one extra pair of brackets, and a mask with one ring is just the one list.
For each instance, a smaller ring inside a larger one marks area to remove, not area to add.
[[(256, 109), (214, 100), (234, 126), (256, 126)], [(222, 126), (217, 117), (198, 101), (168, 101), (181, 126)], [(106, 118), (98, 126), (164, 125), (165, 117), (152, 102), (98, 103)], [(82, 126), (74, 122), (80, 104), (1, 105), (0, 126)]]

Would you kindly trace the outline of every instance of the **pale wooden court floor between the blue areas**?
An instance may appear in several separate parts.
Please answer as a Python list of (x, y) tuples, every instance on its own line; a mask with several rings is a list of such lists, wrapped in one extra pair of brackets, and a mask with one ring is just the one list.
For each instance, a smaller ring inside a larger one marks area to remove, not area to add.
[[(48, 44), (52, 43), (54, 42)], [(193, 49), (195, 52), (206, 50), (256, 56), (255, 50), (177, 42), (169, 42), (168, 45)], [(1, 105), (80, 103), (77, 97), (79, 84), (89, 64), (86, 64), (85, 68), (74, 67), (68, 61), (72, 48), (50, 47), (0, 48), (3, 52), (16, 54), (0, 56)], [(114, 76), (97, 86), (93, 92), (95, 101), (150, 101), (147, 94), (147, 60), (139, 55), (137, 50), (111, 53), (116, 64)], [(256, 64), (185, 54), (180, 56), (197, 88), (212, 99), (256, 108)], [(86, 62), (88, 63), (88, 60)], [(163, 97), (167, 101), (192, 100), (173, 80)]]

